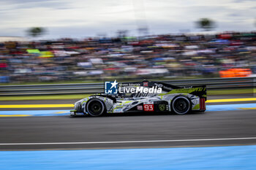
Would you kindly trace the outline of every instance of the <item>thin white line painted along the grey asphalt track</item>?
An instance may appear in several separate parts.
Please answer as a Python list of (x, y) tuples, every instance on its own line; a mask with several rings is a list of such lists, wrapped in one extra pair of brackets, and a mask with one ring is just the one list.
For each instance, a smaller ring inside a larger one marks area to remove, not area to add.
[(200, 141), (227, 141), (247, 140), (256, 137), (244, 138), (216, 138), (216, 139), (176, 139), (176, 140), (149, 140), (149, 141), (112, 141), (112, 142), (45, 142), (45, 143), (0, 143), (0, 145), (46, 145), (46, 144), (125, 144), (125, 143), (154, 143), (154, 142), (200, 142)]

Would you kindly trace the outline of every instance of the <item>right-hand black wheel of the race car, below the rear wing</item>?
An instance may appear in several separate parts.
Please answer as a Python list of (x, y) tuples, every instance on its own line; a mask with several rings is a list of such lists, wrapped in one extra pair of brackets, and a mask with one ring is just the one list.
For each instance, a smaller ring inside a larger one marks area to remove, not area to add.
[(172, 112), (178, 115), (187, 114), (191, 110), (191, 102), (189, 101), (189, 98), (185, 96), (177, 96), (176, 98), (173, 98), (171, 109)]

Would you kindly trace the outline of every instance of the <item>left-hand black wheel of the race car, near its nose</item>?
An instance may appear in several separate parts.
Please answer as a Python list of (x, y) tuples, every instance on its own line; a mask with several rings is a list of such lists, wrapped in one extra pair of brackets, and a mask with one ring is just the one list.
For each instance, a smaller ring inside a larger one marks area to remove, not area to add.
[(105, 104), (98, 98), (92, 98), (86, 103), (86, 112), (91, 116), (100, 116), (105, 113)]

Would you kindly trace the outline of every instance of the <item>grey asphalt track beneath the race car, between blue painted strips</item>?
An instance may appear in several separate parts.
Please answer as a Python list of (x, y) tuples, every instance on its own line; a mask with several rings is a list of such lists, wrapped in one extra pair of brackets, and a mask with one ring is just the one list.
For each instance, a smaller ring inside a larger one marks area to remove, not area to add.
[[(228, 96), (222, 97), (228, 98)], [(251, 96), (239, 95), (238, 97)], [(211, 99), (214, 98), (214, 96), (211, 97)], [(231, 96), (230, 98), (234, 97)], [(24, 104), (28, 101), (15, 102)], [(31, 104), (31, 101), (29, 102)], [(53, 101), (34, 102), (53, 104)], [(66, 103), (64, 101), (55, 102)], [(69, 102), (67, 101), (67, 103)], [(4, 104), (4, 101), (1, 101), (1, 104)], [(229, 104), (233, 104), (233, 102), (229, 102)], [(206, 111), (205, 113), (189, 115), (150, 113), (119, 114), (105, 117), (1, 117), (0, 150), (256, 144), (255, 122), (255, 109), (223, 112)]]

